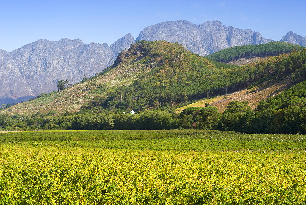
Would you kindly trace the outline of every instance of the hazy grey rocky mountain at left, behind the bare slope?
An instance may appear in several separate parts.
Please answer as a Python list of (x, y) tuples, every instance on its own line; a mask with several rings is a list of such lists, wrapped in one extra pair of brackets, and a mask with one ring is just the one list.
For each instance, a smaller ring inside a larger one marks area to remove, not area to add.
[[(113, 65), (118, 53), (134, 42), (127, 34), (114, 42), (91, 42), (63, 38), (59, 41), (38, 40), (12, 52), (0, 52), (1, 88), (0, 103), (27, 100), (40, 93), (57, 90), (61, 79), (74, 84), (84, 75), (92, 76)], [(9, 83), (7, 83), (9, 82)]]

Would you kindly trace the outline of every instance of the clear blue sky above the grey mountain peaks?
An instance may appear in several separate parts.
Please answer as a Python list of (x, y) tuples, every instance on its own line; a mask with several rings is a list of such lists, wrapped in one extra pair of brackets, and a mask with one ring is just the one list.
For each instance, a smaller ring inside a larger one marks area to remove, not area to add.
[(48, 39), (80, 38), (85, 44), (112, 44), (127, 33), (175, 20), (258, 31), (279, 41), (288, 31), (306, 36), (305, 1), (71, 1), (0, 0), (0, 49), (12, 51)]

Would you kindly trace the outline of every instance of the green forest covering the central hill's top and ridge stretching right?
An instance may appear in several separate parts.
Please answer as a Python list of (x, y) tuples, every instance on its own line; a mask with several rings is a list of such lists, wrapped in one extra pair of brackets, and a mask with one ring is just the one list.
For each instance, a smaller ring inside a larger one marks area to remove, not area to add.
[(279, 55), (241, 67), (224, 69), (210, 60), (191, 53), (178, 43), (141, 41), (118, 56), (114, 66), (125, 58), (142, 53), (139, 65), (150, 66), (151, 72), (140, 75), (133, 84), (118, 87), (107, 98), (91, 100), (88, 109), (121, 108), (144, 111), (163, 106), (176, 106), (188, 100), (203, 99), (242, 90), (263, 79), (289, 75), (297, 64), (294, 53)]

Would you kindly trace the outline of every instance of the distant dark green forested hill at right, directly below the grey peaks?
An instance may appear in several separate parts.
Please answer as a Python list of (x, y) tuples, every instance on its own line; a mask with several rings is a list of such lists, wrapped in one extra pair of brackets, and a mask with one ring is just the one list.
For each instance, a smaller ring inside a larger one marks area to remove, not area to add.
[(292, 50), (299, 50), (303, 48), (305, 47), (288, 42), (276, 41), (260, 45), (234, 46), (217, 51), (206, 56), (206, 58), (218, 62), (228, 63), (232, 60), (238, 60), (244, 57), (276, 56), (278, 54), (290, 53)]

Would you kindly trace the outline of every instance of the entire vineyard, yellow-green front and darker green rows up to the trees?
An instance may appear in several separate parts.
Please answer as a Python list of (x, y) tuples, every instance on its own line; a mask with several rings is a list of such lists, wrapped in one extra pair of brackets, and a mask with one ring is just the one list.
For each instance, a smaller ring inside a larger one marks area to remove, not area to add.
[(304, 135), (0, 133), (1, 204), (306, 203)]

